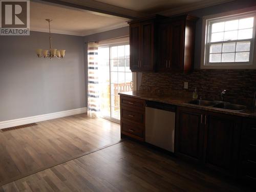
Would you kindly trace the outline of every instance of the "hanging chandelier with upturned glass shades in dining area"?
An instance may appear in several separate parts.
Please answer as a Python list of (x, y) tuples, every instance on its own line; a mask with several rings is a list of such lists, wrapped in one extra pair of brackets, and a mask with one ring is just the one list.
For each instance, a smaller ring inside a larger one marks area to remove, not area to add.
[(46, 21), (49, 23), (50, 49), (49, 50), (36, 49), (37, 57), (44, 57), (44, 58), (49, 57), (50, 59), (52, 59), (53, 57), (64, 58), (66, 50), (52, 49), (52, 37), (51, 37), (51, 28), (50, 28), (50, 22), (52, 21), (52, 19), (48, 18), (46, 19)]

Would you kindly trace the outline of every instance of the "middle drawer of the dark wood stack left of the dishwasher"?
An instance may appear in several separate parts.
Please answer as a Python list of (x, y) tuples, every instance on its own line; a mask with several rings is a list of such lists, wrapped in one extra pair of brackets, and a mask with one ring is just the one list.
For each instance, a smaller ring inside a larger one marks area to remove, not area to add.
[(144, 123), (144, 114), (136, 112), (134, 109), (121, 109), (121, 118), (126, 120), (131, 120), (137, 123)]

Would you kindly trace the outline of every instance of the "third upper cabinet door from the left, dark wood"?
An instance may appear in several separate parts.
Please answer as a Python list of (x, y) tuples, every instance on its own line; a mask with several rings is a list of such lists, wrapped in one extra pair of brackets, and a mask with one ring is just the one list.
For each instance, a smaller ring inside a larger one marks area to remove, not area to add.
[(158, 71), (168, 71), (169, 58), (170, 58), (170, 25), (160, 24), (158, 31), (158, 58), (157, 58), (157, 69)]

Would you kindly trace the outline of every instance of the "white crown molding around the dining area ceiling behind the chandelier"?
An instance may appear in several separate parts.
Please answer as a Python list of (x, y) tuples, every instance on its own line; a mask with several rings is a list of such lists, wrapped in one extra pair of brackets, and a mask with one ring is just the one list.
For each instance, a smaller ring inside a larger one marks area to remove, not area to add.
[[(101, 27), (99, 29), (93, 29), (93, 30), (82, 31), (82, 32), (51, 29), (51, 33), (64, 34), (64, 35), (74, 35), (74, 36), (87, 36), (87, 35), (92, 35), (92, 34), (95, 34), (95, 33), (101, 33), (101, 32), (104, 32), (104, 31), (110, 31), (110, 30), (113, 30), (113, 29), (127, 27), (127, 26), (129, 26), (129, 25), (126, 22), (122, 22), (122, 23), (119, 23), (119, 24), (116, 24), (116, 25), (110, 25), (110, 26), (106, 26), (106, 27)], [(30, 31), (49, 33), (48, 28), (30, 27)]]

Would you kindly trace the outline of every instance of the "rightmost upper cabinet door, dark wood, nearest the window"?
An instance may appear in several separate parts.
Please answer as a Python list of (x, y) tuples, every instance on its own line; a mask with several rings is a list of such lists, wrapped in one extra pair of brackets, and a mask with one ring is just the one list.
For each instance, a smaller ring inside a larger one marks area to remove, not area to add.
[(184, 33), (185, 21), (177, 21), (171, 24), (172, 46), (170, 47), (170, 69), (172, 71), (183, 70), (184, 58)]

